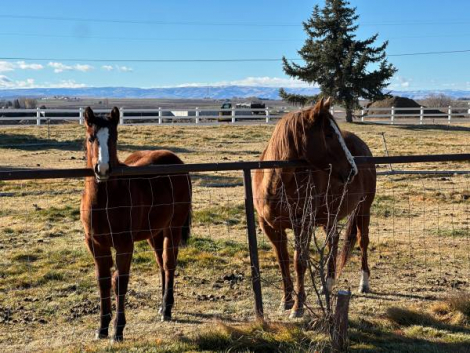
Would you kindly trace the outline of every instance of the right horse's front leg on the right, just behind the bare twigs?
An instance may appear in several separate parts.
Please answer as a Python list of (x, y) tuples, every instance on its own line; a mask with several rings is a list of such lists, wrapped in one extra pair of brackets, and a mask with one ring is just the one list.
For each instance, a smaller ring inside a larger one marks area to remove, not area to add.
[(305, 271), (309, 262), (309, 245), (311, 234), (307, 227), (294, 227), (295, 251), (294, 268), (296, 274), (295, 300), (290, 314), (291, 318), (302, 317), (304, 314), (305, 294)]

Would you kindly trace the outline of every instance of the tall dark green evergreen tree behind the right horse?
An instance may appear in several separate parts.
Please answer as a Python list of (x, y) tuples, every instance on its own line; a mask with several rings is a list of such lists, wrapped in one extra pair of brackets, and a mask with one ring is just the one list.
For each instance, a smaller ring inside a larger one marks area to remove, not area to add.
[[(346, 109), (346, 120), (359, 106), (359, 98), (376, 100), (384, 98), (383, 89), (397, 71), (387, 62), (385, 49), (388, 42), (372, 46), (378, 34), (358, 40), (354, 32), (356, 8), (345, 0), (325, 0), (325, 7), (315, 5), (312, 16), (303, 22), (307, 39), (298, 51), (305, 62), (301, 66), (285, 57), (283, 68), (289, 76), (308, 83), (317, 83), (321, 95), (331, 96)], [(369, 70), (373, 65), (374, 70)], [(281, 89), (279, 95), (291, 103), (309, 102), (314, 97), (302, 98)]]

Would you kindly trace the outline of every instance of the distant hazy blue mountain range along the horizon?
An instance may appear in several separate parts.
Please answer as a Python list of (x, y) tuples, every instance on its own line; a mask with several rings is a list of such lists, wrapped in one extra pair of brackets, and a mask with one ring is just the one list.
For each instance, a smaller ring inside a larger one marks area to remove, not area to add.
[[(288, 88), (286, 91), (297, 94), (317, 94), (318, 88)], [(445, 94), (454, 99), (470, 98), (470, 91), (463, 90), (420, 90), (392, 91), (393, 95), (420, 99), (431, 94)], [(134, 88), (134, 87), (83, 87), (83, 88), (28, 88), (0, 89), (0, 98), (16, 97), (87, 97), (87, 98), (166, 98), (166, 99), (229, 99), (259, 97), (279, 99), (279, 87), (255, 86), (185, 86), (166, 88)]]

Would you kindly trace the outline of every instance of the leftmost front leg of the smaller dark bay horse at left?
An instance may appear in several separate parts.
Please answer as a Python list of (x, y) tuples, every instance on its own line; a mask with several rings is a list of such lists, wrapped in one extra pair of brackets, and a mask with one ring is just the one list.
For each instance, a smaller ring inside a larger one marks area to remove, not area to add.
[(95, 260), (96, 279), (100, 291), (100, 327), (96, 332), (96, 338), (108, 337), (109, 323), (111, 322), (111, 267), (113, 258), (111, 249), (102, 249), (93, 240), (86, 240), (87, 247)]

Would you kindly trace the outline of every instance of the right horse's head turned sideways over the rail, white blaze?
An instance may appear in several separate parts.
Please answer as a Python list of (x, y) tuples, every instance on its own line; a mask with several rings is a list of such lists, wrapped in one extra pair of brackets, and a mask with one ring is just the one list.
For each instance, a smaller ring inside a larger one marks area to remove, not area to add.
[(358, 170), (354, 157), (346, 146), (341, 130), (330, 113), (331, 100), (321, 99), (304, 111), (309, 124), (305, 131), (304, 158), (320, 169), (330, 169), (331, 175), (343, 184), (352, 181)]

